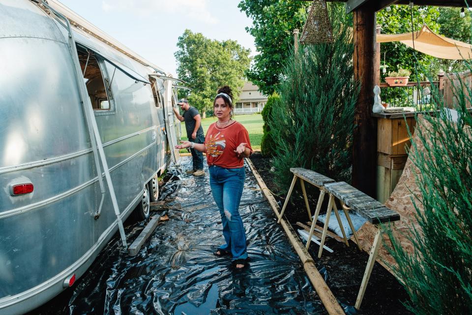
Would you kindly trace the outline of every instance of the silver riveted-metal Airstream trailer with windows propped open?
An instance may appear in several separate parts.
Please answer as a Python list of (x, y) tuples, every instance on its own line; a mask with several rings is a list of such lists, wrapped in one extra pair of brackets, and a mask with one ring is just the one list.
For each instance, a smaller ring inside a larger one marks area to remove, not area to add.
[(171, 158), (175, 81), (56, 0), (0, 2), (0, 314), (79, 278)]

